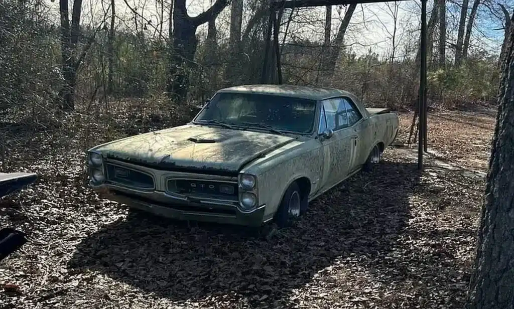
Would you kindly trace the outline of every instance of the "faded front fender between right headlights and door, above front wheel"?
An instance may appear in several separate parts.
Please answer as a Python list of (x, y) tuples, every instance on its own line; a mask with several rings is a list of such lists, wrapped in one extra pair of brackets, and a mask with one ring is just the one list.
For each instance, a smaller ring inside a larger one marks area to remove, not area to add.
[(259, 204), (266, 204), (264, 220), (277, 211), (285, 190), (300, 178), (308, 179), (309, 196), (319, 189), (323, 172), (323, 153), (318, 140), (295, 141), (254, 161), (242, 172), (257, 175)]

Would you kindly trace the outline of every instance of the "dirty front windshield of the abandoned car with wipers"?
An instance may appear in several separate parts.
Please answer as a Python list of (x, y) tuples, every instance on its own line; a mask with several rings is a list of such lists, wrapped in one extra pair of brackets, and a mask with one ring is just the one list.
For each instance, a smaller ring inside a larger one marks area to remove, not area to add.
[(314, 100), (220, 92), (214, 95), (195, 121), (308, 133), (313, 129), (315, 113)]

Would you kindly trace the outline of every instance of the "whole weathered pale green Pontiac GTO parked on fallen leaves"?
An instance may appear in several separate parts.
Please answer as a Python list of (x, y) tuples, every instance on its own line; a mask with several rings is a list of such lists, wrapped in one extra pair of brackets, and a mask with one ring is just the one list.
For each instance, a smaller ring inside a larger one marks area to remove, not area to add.
[(283, 227), (369, 170), (397, 132), (395, 113), (364, 108), (346, 91), (235, 86), (186, 125), (89, 149), (89, 185), (163, 217)]

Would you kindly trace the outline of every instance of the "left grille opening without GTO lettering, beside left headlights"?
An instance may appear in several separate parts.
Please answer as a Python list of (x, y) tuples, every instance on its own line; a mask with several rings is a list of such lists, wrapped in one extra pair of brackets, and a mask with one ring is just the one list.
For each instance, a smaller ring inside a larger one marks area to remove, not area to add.
[(147, 173), (125, 166), (106, 164), (107, 180), (137, 189), (152, 190), (155, 188), (154, 179)]

